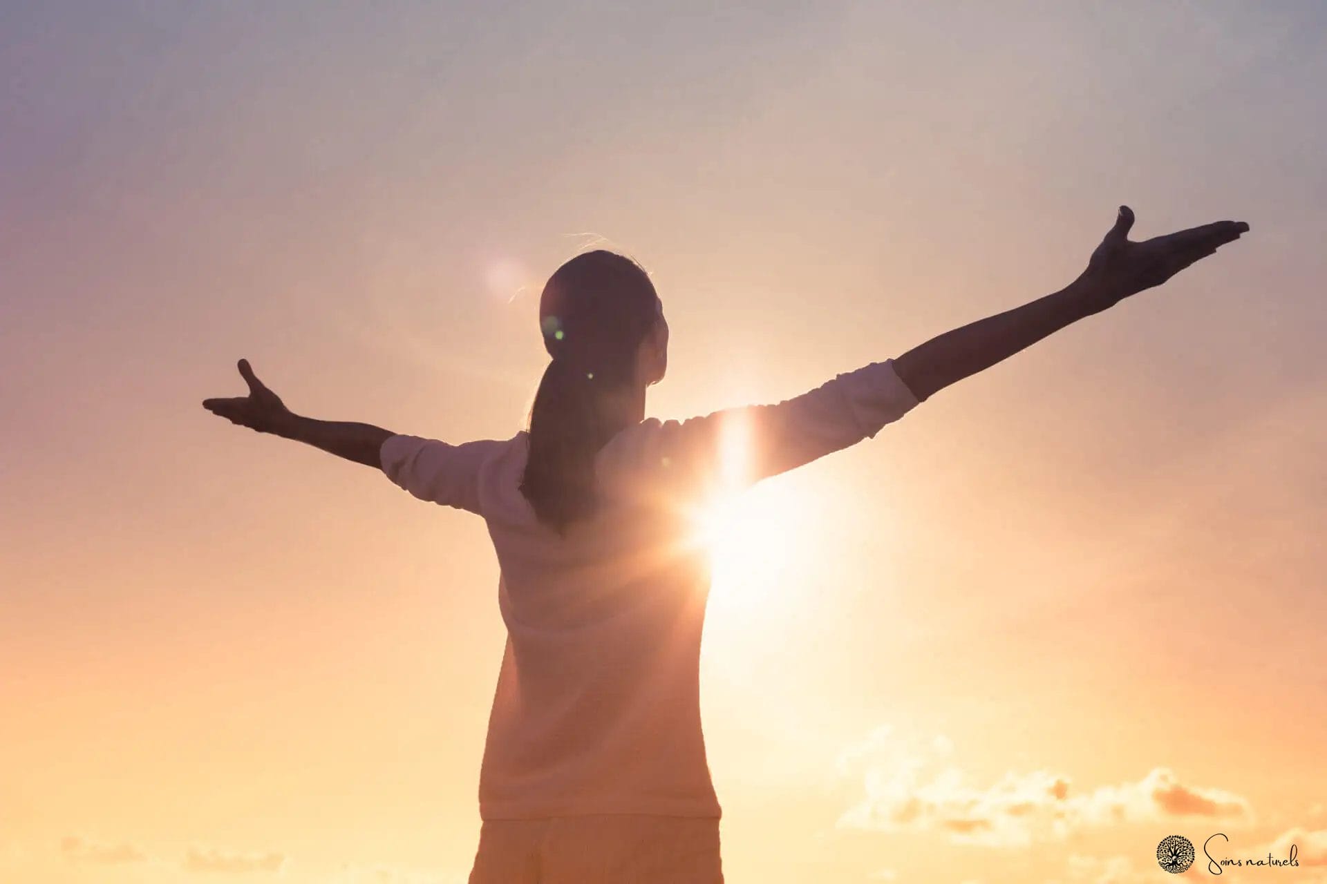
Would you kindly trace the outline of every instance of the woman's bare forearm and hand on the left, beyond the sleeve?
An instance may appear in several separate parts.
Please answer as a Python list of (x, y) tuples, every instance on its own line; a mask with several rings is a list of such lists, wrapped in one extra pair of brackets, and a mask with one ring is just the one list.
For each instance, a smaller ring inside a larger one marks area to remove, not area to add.
[(293, 439), (337, 457), (381, 469), (380, 451), (382, 443), (394, 435), (391, 431), (372, 424), (301, 417), (287, 408), (281, 398), (257, 379), (247, 359), (240, 359), (239, 368), (248, 383), (249, 395), (204, 399), (203, 408), (239, 427)]

